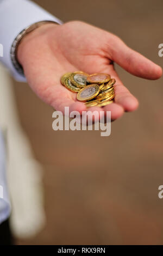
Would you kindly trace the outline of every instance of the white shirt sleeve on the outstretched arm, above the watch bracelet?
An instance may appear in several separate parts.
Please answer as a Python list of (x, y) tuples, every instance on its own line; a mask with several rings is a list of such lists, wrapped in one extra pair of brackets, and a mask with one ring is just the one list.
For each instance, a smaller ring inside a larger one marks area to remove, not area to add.
[(29, 0), (0, 0), (0, 61), (7, 66), (17, 81), (26, 82), (18, 74), (10, 58), (11, 45), (23, 29), (39, 21), (62, 22)]

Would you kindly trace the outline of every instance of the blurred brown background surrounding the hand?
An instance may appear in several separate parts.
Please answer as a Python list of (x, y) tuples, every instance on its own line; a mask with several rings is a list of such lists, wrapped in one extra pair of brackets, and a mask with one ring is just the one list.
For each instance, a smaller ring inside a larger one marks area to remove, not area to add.
[[(37, 0), (62, 21), (83, 20), (120, 36), (163, 66), (161, 0)], [(47, 224), (18, 244), (162, 244), (162, 78), (146, 81), (116, 66), (140, 107), (99, 131), (53, 131), (51, 107), (14, 82), (17, 107), (45, 170)]]

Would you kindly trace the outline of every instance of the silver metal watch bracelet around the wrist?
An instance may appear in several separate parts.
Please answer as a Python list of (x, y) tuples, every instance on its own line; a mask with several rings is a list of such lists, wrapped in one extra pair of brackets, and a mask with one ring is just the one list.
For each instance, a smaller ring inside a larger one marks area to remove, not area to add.
[(20, 34), (18, 34), (16, 36), (14, 42), (12, 43), (11, 51), (10, 51), (10, 57), (11, 57), (12, 64), (14, 65), (15, 69), (17, 70), (17, 72), (20, 75), (24, 75), (24, 71), (23, 71), (23, 68), (22, 68), (21, 64), (18, 62), (17, 57), (16, 57), (17, 56), (18, 45), (20, 44), (21, 40), (24, 38), (25, 35), (29, 34), (30, 32), (34, 31), (36, 28), (39, 28), (40, 26), (42, 26), (46, 23), (58, 24), (57, 22), (54, 22), (54, 21), (39, 21), (39, 22), (33, 23), (29, 27), (23, 29), (23, 31), (21, 31)]

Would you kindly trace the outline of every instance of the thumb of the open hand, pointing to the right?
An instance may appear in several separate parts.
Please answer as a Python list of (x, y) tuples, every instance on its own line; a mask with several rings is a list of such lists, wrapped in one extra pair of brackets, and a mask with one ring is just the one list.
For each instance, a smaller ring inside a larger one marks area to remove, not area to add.
[(117, 36), (110, 38), (109, 47), (111, 48), (110, 58), (131, 74), (151, 80), (161, 77), (162, 69), (159, 65), (129, 48)]

